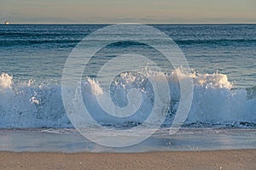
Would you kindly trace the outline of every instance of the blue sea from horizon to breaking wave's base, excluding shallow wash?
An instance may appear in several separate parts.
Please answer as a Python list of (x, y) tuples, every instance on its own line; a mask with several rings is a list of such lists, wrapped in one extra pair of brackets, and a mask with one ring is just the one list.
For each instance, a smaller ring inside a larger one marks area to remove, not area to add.
[[(62, 71), (73, 48), (104, 26), (107, 25), (0, 26), (0, 127), (73, 127), (61, 99)], [(160, 60), (174, 94), (163, 127), (172, 124), (177, 111), (179, 89), (175, 74), (193, 77), (195, 81), (193, 102), (184, 127), (256, 126), (256, 25), (153, 26), (172, 37), (181, 48), (191, 74), (184, 74), (182, 69), (174, 71), (153, 50), (136, 42), (115, 43), (106, 51), (139, 51)], [(105, 52), (97, 54), (84, 71), (84, 102), (90, 104), (93, 114), (99, 114), (95, 117), (104, 126), (137, 126), (145, 116), (112, 119), (102, 116), (94, 105), (93, 97), (102, 93), (101, 88), (96, 89), (96, 94), (91, 92), (91, 87), (97, 85), (93, 81), (94, 73), (106, 59), (114, 57), (103, 56)], [(129, 77), (136, 78), (127, 82)], [(119, 78), (124, 81), (117, 82), (113, 94), (118, 93), (113, 100), (120, 106), (127, 105), (126, 87), (147, 89), (149, 86), (137, 75)], [(149, 103), (146, 108), (152, 105)]]

